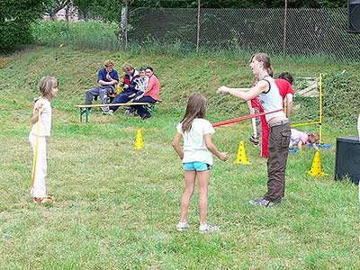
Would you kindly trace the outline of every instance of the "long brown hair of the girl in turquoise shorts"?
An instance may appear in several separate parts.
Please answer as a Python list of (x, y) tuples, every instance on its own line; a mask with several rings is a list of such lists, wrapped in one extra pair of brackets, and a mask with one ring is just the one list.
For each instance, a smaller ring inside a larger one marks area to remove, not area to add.
[(190, 131), (195, 118), (204, 118), (206, 114), (207, 100), (200, 94), (195, 93), (187, 100), (186, 111), (182, 122), (182, 130)]

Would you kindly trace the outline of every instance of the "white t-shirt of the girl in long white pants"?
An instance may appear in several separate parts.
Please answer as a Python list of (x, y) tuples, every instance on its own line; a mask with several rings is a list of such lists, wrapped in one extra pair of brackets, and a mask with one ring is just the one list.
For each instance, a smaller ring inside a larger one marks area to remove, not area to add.
[[(34, 104), (33, 114), (38, 108), (39, 104), (42, 104), (42, 113), (40, 116), (40, 136), (49, 137), (51, 133), (51, 103), (45, 98), (40, 98)], [(38, 112), (36, 112), (38, 113)], [(32, 125), (31, 133), (38, 135), (38, 122)]]

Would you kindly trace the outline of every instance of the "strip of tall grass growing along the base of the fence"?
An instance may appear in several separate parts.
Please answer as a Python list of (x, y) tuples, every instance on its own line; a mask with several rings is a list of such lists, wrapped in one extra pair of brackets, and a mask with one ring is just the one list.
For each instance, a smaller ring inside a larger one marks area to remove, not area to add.
[[(88, 22), (70, 22), (68, 27), (69, 44), (76, 49), (120, 49), (120, 44), (117, 40), (118, 32), (117, 23), (103, 23), (101, 21)], [(67, 42), (67, 23), (64, 21), (38, 21), (32, 24), (32, 32), (35, 38), (35, 43), (46, 46), (58, 46), (66, 44)], [(250, 58), (254, 51), (241, 48), (234, 44), (232, 49), (211, 49), (200, 47), (196, 50), (194, 46), (184, 43), (182, 40), (169, 40), (162, 42), (156, 37), (148, 37), (148, 39), (139, 42), (133, 40), (130, 33), (128, 33), (127, 50), (131, 53), (141, 54), (144, 51), (148, 53), (166, 54), (174, 57), (198, 57), (217, 55), (224, 58)], [(257, 51), (255, 51), (257, 52)], [(350, 59), (335, 59), (329, 55), (318, 54), (308, 56), (285, 55), (282, 53), (272, 55), (279, 59), (279, 61), (302, 62), (304, 65), (308, 62), (313, 62), (316, 59), (318, 64), (326, 66), (329, 62), (335, 61), (338, 63), (356, 63)]]

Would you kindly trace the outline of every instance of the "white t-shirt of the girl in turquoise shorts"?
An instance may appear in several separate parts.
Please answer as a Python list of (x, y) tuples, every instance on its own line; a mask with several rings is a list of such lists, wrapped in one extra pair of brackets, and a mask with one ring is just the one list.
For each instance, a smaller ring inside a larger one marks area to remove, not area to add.
[(213, 160), (211, 152), (206, 148), (205, 140), (203, 139), (203, 135), (212, 135), (215, 133), (211, 122), (202, 118), (195, 118), (189, 132), (183, 132), (181, 127), (182, 123), (179, 123), (176, 126), (176, 130), (183, 135), (184, 139), (183, 163), (198, 161), (212, 165)]

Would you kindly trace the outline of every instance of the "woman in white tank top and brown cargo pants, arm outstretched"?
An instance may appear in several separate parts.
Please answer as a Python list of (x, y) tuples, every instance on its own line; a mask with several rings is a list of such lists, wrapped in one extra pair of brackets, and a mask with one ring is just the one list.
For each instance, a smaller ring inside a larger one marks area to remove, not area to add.
[(279, 111), (283, 109), (283, 100), (273, 77), (270, 76), (274, 71), (270, 58), (265, 53), (257, 53), (251, 58), (249, 67), (258, 79), (257, 85), (251, 88), (221, 86), (217, 93), (232, 94), (244, 101), (257, 96), (264, 111), (273, 112), (266, 114), (266, 120), (270, 127), (267, 192), (264, 196), (249, 202), (253, 205), (268, 207), (273, 206), (275, 202), (281, 202), (284, 197), (285, 169), (291, 135), (290, 122), (284, 111)]

